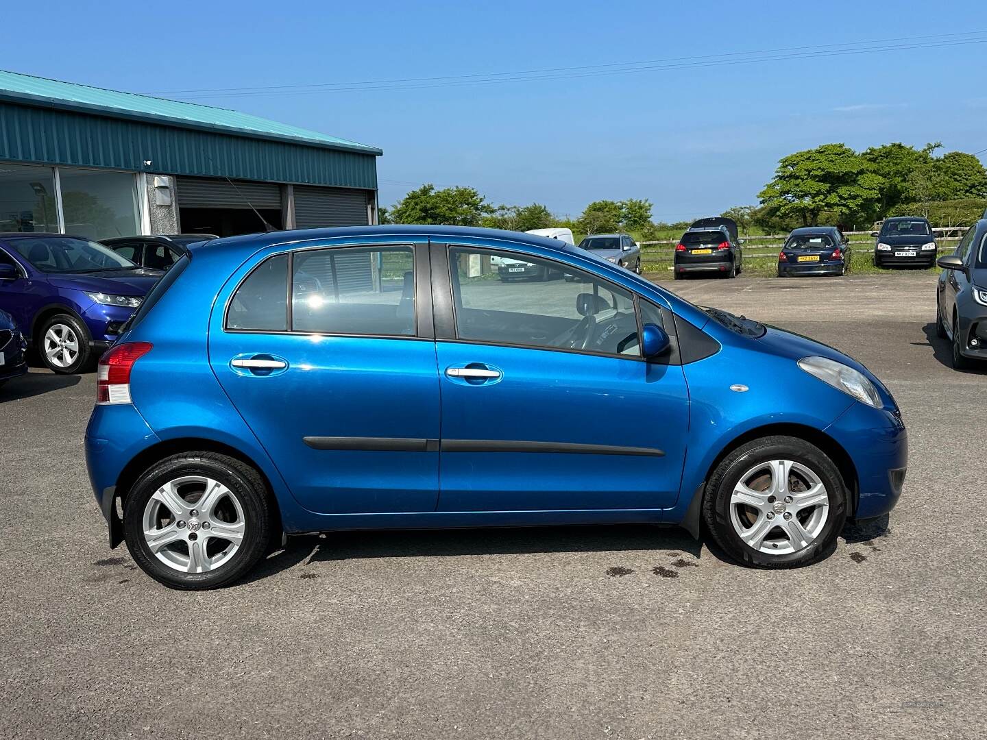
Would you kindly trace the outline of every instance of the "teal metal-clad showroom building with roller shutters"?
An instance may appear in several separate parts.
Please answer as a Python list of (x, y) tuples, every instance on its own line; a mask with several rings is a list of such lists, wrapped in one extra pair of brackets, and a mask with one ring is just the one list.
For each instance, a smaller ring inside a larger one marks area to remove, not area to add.
[[(0, 232), (220, 236), (376, 223), (380, 149), (0, 71)], [(253, 207), (252, 207), (253, 206)]]

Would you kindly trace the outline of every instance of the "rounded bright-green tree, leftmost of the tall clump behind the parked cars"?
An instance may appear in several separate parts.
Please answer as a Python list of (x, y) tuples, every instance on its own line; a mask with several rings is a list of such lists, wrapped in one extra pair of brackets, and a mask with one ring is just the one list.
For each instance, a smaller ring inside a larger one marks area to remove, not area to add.
[(758, 196), (771, 213), (797, 217), (803, 226), (815, 226), (824, 211), (851, 222), (876, 211), (883, 182), (850, 147), (823, 144), (782, 158)]

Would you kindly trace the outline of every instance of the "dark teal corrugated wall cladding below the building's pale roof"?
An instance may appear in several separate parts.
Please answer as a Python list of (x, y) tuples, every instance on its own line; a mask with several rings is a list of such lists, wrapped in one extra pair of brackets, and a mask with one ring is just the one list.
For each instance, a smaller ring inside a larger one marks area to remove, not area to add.
[[(0, 159), (376, 189), (376, 157), (0, 103)], [(150, 160), (150, 165), (144, 165)], [(366, 223), (366, 216), (361, 223)]]

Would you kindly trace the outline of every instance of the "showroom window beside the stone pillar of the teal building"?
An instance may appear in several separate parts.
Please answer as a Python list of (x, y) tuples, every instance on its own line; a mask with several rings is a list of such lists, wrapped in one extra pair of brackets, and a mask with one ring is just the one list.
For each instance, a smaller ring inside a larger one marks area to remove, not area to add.
[(88, 239), (139, 233), (137, 183), (132, 173), (59, 168), (65, 233)]

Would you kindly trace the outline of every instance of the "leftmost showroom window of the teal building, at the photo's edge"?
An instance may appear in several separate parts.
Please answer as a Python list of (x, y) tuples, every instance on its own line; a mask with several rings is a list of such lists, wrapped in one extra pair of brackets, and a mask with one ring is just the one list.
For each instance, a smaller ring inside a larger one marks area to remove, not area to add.
[(58, 231), (54, 171), (0, 163), (0, 232)]

